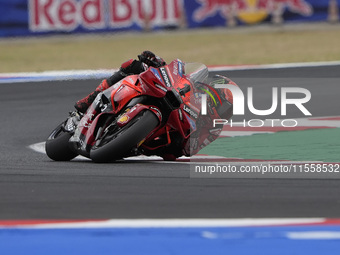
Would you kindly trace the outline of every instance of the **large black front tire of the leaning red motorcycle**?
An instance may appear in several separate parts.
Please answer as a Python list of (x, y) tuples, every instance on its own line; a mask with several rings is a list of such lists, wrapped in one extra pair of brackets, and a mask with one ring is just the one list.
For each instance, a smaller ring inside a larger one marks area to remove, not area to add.
[(101, 141), (99, 145), (93, 146), (90, 158), (97, 163), (106, 163), (129, 156), (132, 148), (143, 141), (158, 123), (159, 120), (153, 112), (149, 110), (142, 112), (114, 133), (113, 140)]

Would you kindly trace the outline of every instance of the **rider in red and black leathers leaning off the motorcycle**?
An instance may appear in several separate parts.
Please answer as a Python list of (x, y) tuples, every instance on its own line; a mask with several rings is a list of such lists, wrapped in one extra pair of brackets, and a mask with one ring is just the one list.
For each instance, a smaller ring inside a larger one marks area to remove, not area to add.
[[(74, 107), (79, 113), (84, 114), (100, 92), (108, 89), (129, 75), (140, 74), (146, 71), (150, 66), (158, 68), (164, 65), (166, 65), (166, 62), (161, 57), (156, 56), (151, 51), (143, 51), (141, 55), (138, 55), (138, 60), (130, 59), (124, 62), (117, 72), (110, 78), (104, 79), (95, 91), (77, 101)], [(213, 83), (236, 85), (233, 81), (223, 76), (220, 76), (219, 79), (215, 80)], [(232, 116), (233, 98), (228, 89), (216, 89), (216, 91), (220, 95), (223, 104), (214, 106), (212, 102), (208, 100), (209, 110), (207, 111), (207, 115), (200, 116), (199, 121), (197, 122), (196, 131), (192, 133), (188, 141), (183, 141), (177, 145), (170, 146), (172, 148), (169, 148), (166, 152), (165, 159), (174, 160), (182, 155), (195, 155), (203, 147), (218, 138), (222, 131), (222, 127), (213, 127), (213, 119), (229, 119)]]

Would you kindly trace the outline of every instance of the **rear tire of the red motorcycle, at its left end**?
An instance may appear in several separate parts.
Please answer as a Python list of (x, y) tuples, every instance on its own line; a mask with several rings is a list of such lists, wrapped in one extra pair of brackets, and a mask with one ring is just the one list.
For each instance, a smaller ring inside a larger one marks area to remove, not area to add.
[(63, 130), (62, 124), (60, 124), (52, 131), (46, 141), (45, 150), (47, 156), (55, 161), (70, 161), (78, 156), (78, 153), (75, 153), (70, 148), (69, 140), (71, 136), (70, 133)]

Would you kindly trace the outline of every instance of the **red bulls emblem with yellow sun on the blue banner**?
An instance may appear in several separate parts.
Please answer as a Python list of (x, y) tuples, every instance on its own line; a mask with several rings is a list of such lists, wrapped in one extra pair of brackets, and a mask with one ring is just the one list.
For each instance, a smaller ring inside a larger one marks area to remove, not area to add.
[(304, 16), (313, 14), (312, 6), (306, 0), (196, 0), (201, 6), (193, 18), (201, 22), (208, 17), (221, 14), (226, 19), (254, 24), (263, 21), (268, 15), (282, 15), (285, 10)]

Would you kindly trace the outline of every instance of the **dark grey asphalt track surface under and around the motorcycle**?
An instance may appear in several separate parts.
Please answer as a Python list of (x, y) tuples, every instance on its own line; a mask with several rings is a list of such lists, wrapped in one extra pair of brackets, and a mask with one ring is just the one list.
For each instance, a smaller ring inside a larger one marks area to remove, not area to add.
[[(339, 115), (340, 66), (226, 74), (255, 82), (259, 99), (272, 86), (307, 88), (313, 116)], [(53, 162), (28, 148), (97, 84), (0, 85), (0, 219), (340, 217), (340, 180), (190, 179), (187, 164)]]

